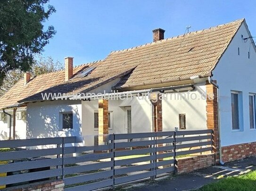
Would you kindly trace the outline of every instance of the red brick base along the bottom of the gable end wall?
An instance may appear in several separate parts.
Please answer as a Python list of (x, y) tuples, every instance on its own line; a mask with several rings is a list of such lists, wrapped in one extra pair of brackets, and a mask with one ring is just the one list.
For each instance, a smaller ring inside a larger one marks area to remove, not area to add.
[(222, 147), (222, 160), (228, 162), (256, 155), (256, 142)]

